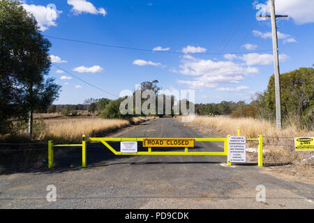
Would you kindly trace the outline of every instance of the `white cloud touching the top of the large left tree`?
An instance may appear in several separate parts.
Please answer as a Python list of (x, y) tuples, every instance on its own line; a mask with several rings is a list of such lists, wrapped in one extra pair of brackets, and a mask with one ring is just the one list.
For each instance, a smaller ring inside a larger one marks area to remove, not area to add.
[(56, 20), (62, 11), (57, 10), (54, 4), (47, 6), (28, 5), (22, 1), (22, 6), (28, 13), (33, 14), (40, 26), (40, 31), (47, 30), (50, 26), (57, 26)]

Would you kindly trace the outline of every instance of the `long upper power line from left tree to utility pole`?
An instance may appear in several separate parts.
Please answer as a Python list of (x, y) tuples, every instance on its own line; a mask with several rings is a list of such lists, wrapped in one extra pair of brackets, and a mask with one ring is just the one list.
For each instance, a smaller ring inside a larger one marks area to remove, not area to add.
[[(43, 35), (48, 38), (54, 38), (57, 40), (64, 40), (64, 41), (70, 41), (70, 42), (75, 42), (75, 43), (84, 43), (84, 44), (89, 44), (89, 45), (98, 45), (102, 47), (110, 47), (110, 48), (116, 48), (116, 49), (131, 49), (131, 50), (137, 50), (137, 51), (142, 51), (142, 52), (163, 52), (163, 53), (168, 53), (168, 54), (186, 54), (184, 52), (179, 52), (179, 51), (153, 51), (151, 49), (141, 49), (137, 47), (124, 47), (124, 46), (118, 46), (118, 45), (106, 45), (106, 44), (101, 44), (101, 43), (93, 43), (89, 41), (84, 41), (84, 40), (73, 40), (73, 39), (68, 39), (68, 38), (59, 38), (55, 36), (47, 36)], [(272, 51), (273, 49), (264, 49), (264, 50), (258, 50), (258, 51), (253, 51), (253, 52), (204, 52), (204, 53), (188, 53), (188, 54), (203, 54), (203, 55), (223, 55), (223, 54), (248, 54), (248, 53), (258, 53), (258, 52), (269, 52)]]

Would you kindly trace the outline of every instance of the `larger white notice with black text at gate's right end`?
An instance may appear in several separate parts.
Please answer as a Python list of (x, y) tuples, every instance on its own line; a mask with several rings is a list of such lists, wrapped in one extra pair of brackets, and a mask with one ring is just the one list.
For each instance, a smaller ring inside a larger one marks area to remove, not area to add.
[(246, 137), (229, 137), (229, 162), (246, 162)]

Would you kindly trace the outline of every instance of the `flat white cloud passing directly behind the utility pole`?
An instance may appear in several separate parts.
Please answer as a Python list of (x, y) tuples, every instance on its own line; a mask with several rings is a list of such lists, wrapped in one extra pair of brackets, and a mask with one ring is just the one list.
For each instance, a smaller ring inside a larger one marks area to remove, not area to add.
[[(279, 54), (279, 60), (281, 62), (287, 61), (290, 57), (286, 54)], [(253, 65), (269, 65), (274, 63), (274, 56), (272, 54), (244, 54), (243, 56), (238, 56), (237, 59), (246, 62), (246, 65), (253, 66)]]

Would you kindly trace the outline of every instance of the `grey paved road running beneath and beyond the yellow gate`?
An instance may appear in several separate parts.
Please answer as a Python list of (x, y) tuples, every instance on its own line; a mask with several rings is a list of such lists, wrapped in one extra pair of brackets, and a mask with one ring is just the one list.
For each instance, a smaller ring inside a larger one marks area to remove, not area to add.
[[(160, 118), (121, 137), (210, 136)], [(222, 146), (197, 142), (193, 150)], [(57, 151), (53, 170), (0, 176), (0, 208), (314, 208), (313, 184), (281, 180), (252, 164), (227, 167), (226, 157), (114, 156), (102, 144), (90, 144), (87, 157), (89, 167), (81, 169), (80, 150)], [(56, 186), (57, 202), (47, 202), (47, 185)], [(265, 202), (256, 201), (257, 185), (266, 187)]]

